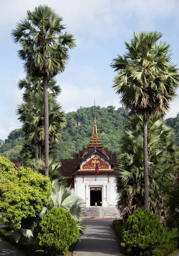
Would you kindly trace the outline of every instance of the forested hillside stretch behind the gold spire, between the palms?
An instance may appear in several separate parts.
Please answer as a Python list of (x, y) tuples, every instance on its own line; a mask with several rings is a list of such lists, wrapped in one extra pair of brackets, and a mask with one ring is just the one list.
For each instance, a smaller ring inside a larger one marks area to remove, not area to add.
[[(124, 108), (108, 106), (96, 107), (98, 135), (104, 147), (113, 152), (118, 150), (118, 138), (124, 128), (128, 111)], [(72, 158), (73, 153), (82, 150), (90, 142), (94, 121), (94, 107), (79, 108), (67, 114), (67, 125), (63, 131), (63, 141), (59, 145), (61, 159)]]

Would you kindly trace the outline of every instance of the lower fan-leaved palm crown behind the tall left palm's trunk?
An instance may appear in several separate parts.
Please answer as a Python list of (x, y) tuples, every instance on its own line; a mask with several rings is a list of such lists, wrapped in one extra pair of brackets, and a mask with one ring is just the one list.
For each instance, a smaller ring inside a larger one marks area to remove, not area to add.
[[(26, 91), (24, 94), (26, 94)], [(61, 110), (61, 105), (55, 100), (55, 97), (54, 93), (48, 93), (50, 145), (56, 144), (61, 140), (61, 129), (66, 124), (65, 113)], [(32, 93), (28, 102), (23, 102), (17, 106), (17, 114), (19, 115), (18, 119), (23, 123), (22, 129), (26, 143), (40, 145), (40, 158), (43, 160), (45, 141), (43, 92)]]

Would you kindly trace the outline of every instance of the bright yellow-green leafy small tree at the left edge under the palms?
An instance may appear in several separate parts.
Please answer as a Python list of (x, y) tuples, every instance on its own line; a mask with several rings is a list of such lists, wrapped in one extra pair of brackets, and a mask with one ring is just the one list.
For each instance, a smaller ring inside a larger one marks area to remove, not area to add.
[(0, 208), (9, 224), (20, 228), (24, 219), (38, 216), (43, 205), (50, 203), (51, 193), (49, 177), (30, 168), (17, 171), (14, 163), (0, 156)]

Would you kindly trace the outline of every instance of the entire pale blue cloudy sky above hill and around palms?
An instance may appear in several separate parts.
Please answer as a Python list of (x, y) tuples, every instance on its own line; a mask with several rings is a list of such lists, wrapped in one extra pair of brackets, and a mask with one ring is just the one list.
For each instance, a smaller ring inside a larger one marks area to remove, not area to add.
[[(17, 57), (18, 45), (10, 37), (11, 29), (26, 16), (28, 9), (47, 4), (64, 18), (68, 31), (75, 35), (77, 47), (70, 52), (66, 71), (57, 76), (64, 110), (96, 105), (120, 107), (112, 89), (115, 73), (111, 60), (125, 51), (124, 41), (133, 32), (157, 30), (173, 49), (172, 60), (179, 63), (178, 0), (6, 0), (0, 16), (0, 139), (20, 127), (15, 114), (21, 102), (17, 81), (25, 75)], [(178, 91), (179, 94), (179, 91)], [(171, 103), (167, 117), (179, 112), (179, 97)]]

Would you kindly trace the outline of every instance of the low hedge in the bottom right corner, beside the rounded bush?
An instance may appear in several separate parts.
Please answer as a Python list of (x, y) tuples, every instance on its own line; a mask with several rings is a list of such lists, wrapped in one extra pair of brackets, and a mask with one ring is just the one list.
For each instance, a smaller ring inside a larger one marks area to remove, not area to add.
[(179, 245), (178, 239), (171, 239), (167, 244), (158, 245), (152, 251), (153, 256), (167, 256), (172, 253)]

